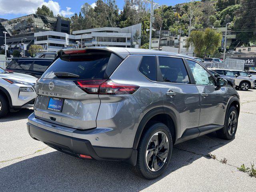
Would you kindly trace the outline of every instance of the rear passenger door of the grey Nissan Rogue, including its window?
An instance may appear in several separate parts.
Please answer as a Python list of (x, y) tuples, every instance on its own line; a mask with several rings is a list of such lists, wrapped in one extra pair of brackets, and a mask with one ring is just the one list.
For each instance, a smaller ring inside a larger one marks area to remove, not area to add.
[(163, 106), (173, 112), (178, 121), (178, 137), (186, 129), (197, 128), (200, 115), (199, 93), (191, 84), (186, 64), (182, 58), (158, 56), (158, 86), (162, 92)]

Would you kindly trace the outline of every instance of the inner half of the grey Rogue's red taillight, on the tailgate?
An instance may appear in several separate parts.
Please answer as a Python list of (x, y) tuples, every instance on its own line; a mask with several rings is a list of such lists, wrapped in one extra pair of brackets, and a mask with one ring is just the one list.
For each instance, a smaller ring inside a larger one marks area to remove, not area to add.
[(88, 94), (98, 94), (100, 84), (105, 82), (106, 79), (95, 79), (95, 80), (78, 80), (74, 81), (75, 84), (84, 90)]

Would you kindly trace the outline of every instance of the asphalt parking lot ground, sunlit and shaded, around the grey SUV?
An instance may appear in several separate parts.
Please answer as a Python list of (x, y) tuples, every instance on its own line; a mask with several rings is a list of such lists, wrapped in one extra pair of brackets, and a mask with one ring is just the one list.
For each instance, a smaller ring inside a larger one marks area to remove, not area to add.
[(32, 109), (9, 114), (0, 119), (0, 191), (255, 192), (256, 178), (237, 167), (256, 164), (256, 90), (239, 94), (236, 138), (221, 140), (212, 133), (174, 146), (167, 171), (156, 180), (138, 178), (120, 162), (62, 154), (30, 138), (26, 122)]

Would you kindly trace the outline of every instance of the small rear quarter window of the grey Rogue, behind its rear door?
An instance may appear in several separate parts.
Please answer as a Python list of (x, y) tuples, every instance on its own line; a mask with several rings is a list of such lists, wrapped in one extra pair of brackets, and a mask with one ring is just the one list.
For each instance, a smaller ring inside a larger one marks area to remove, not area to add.
[(143, 56), (139, 71), (152, 81), (156, 81), (156, 57)]

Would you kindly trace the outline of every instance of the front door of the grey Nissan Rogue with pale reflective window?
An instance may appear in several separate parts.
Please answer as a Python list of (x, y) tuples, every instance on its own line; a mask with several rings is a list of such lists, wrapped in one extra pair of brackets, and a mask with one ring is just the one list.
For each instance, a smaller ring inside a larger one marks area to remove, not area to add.
[(215, 78), (199, 63), (186, 59), (200, 94), (200, 126), (224, 125), (228, 87), (217, 88)]

